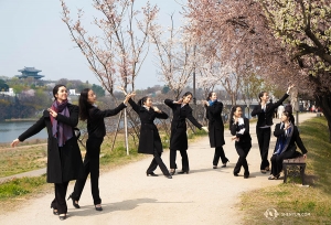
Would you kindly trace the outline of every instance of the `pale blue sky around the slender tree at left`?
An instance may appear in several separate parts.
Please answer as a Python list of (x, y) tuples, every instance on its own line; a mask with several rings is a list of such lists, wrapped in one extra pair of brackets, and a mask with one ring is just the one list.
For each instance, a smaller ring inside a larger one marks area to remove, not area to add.
[[(92, 2), (66, 0), (71, 13), (83, 8), (87, 21), (96, 12)], [(146, 2), (136, 0), (135, 4), (140, 9)], [(171, 13), (174, 13), (174, 25), (181, 25), (182, 7), (178, 1), (150, 0), (150, 3), (160, 8), (158, 21), (161, 25), (170, 25)], [(99, 85), (86, 58), (71, 40), (61, 12), (60, 0), (0, 0), (0, 76), (20, 75), (18, 69), (26, 66), (41, 69), (39, 74), (45, 75), (45, 81), (67, 78)], [(138, 89), (163, 85), (157, 75), (152, 52), (151, 49), (136, 79)]]

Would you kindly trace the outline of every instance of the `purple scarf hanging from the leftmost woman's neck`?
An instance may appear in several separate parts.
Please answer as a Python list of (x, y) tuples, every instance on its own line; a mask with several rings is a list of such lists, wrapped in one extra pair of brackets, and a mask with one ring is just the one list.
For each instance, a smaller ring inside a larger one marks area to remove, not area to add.
[[(62, 104), (57, 103), (57, 100), (54, 100), (51, 108), (57, 114), (61, 114), (65, 117), (70, 117), (70, 111), (67, 109), (67, 100), (63, 101)], [(50, 117), (52, 124), (52, 135), (54, 138), (57, 138), (58, 147), (63, 147), (65, 141), (73, 137), (73, 128), (63, 122), (58, 122), (52, 116)]]

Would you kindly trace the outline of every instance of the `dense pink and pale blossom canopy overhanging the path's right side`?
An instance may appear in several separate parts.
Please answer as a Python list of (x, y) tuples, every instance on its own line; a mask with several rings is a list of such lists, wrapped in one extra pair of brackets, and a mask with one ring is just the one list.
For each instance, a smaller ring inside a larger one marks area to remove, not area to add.
[[(330, 0), (189, 0), (186, 32), (206, 55), (285, 89), (310, 92), (331, 129)], [(330, 132), (331, 133), (331, 132)], [(330, 136), (331, 139), (331, 136)]]

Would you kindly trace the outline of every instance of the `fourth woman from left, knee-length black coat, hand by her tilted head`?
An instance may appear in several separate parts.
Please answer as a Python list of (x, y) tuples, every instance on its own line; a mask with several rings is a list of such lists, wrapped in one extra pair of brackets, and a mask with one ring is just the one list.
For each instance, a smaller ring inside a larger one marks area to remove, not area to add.
[(192, 108), (189, 103), (192, 99), (192, 93), (188, 92), (183, 97), (175, 101), (166, 99), (164, 104), (172, 109), (172, 121), (171, 121), (171, 137), (170, 137), (170, 169), (171, 174), (174, 174), (177, 164), (175, 156), (177, 150), (180, 151), (182, 156), (182, 173), (189, 173), (189, 158), (188, 158), (188, 136), (186, 136), (186, 118), (199, 129), (207, 130), (206, 127), (202, 127), (196, 119), (192, 116)]

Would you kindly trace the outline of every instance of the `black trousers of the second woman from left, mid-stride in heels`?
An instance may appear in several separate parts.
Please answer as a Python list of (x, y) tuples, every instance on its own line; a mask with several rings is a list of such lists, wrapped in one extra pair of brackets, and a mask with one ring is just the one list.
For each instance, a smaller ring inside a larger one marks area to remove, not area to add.
[(99, 156), (103, 138), (88, 138), (86, 141), (86, 154), (84, 159), (84, 178), (75, 183), (73, 200), (79, 201), (88, 174), (90, 174), (90, 191), (95, 205), (102, 203), (99, 196)]

